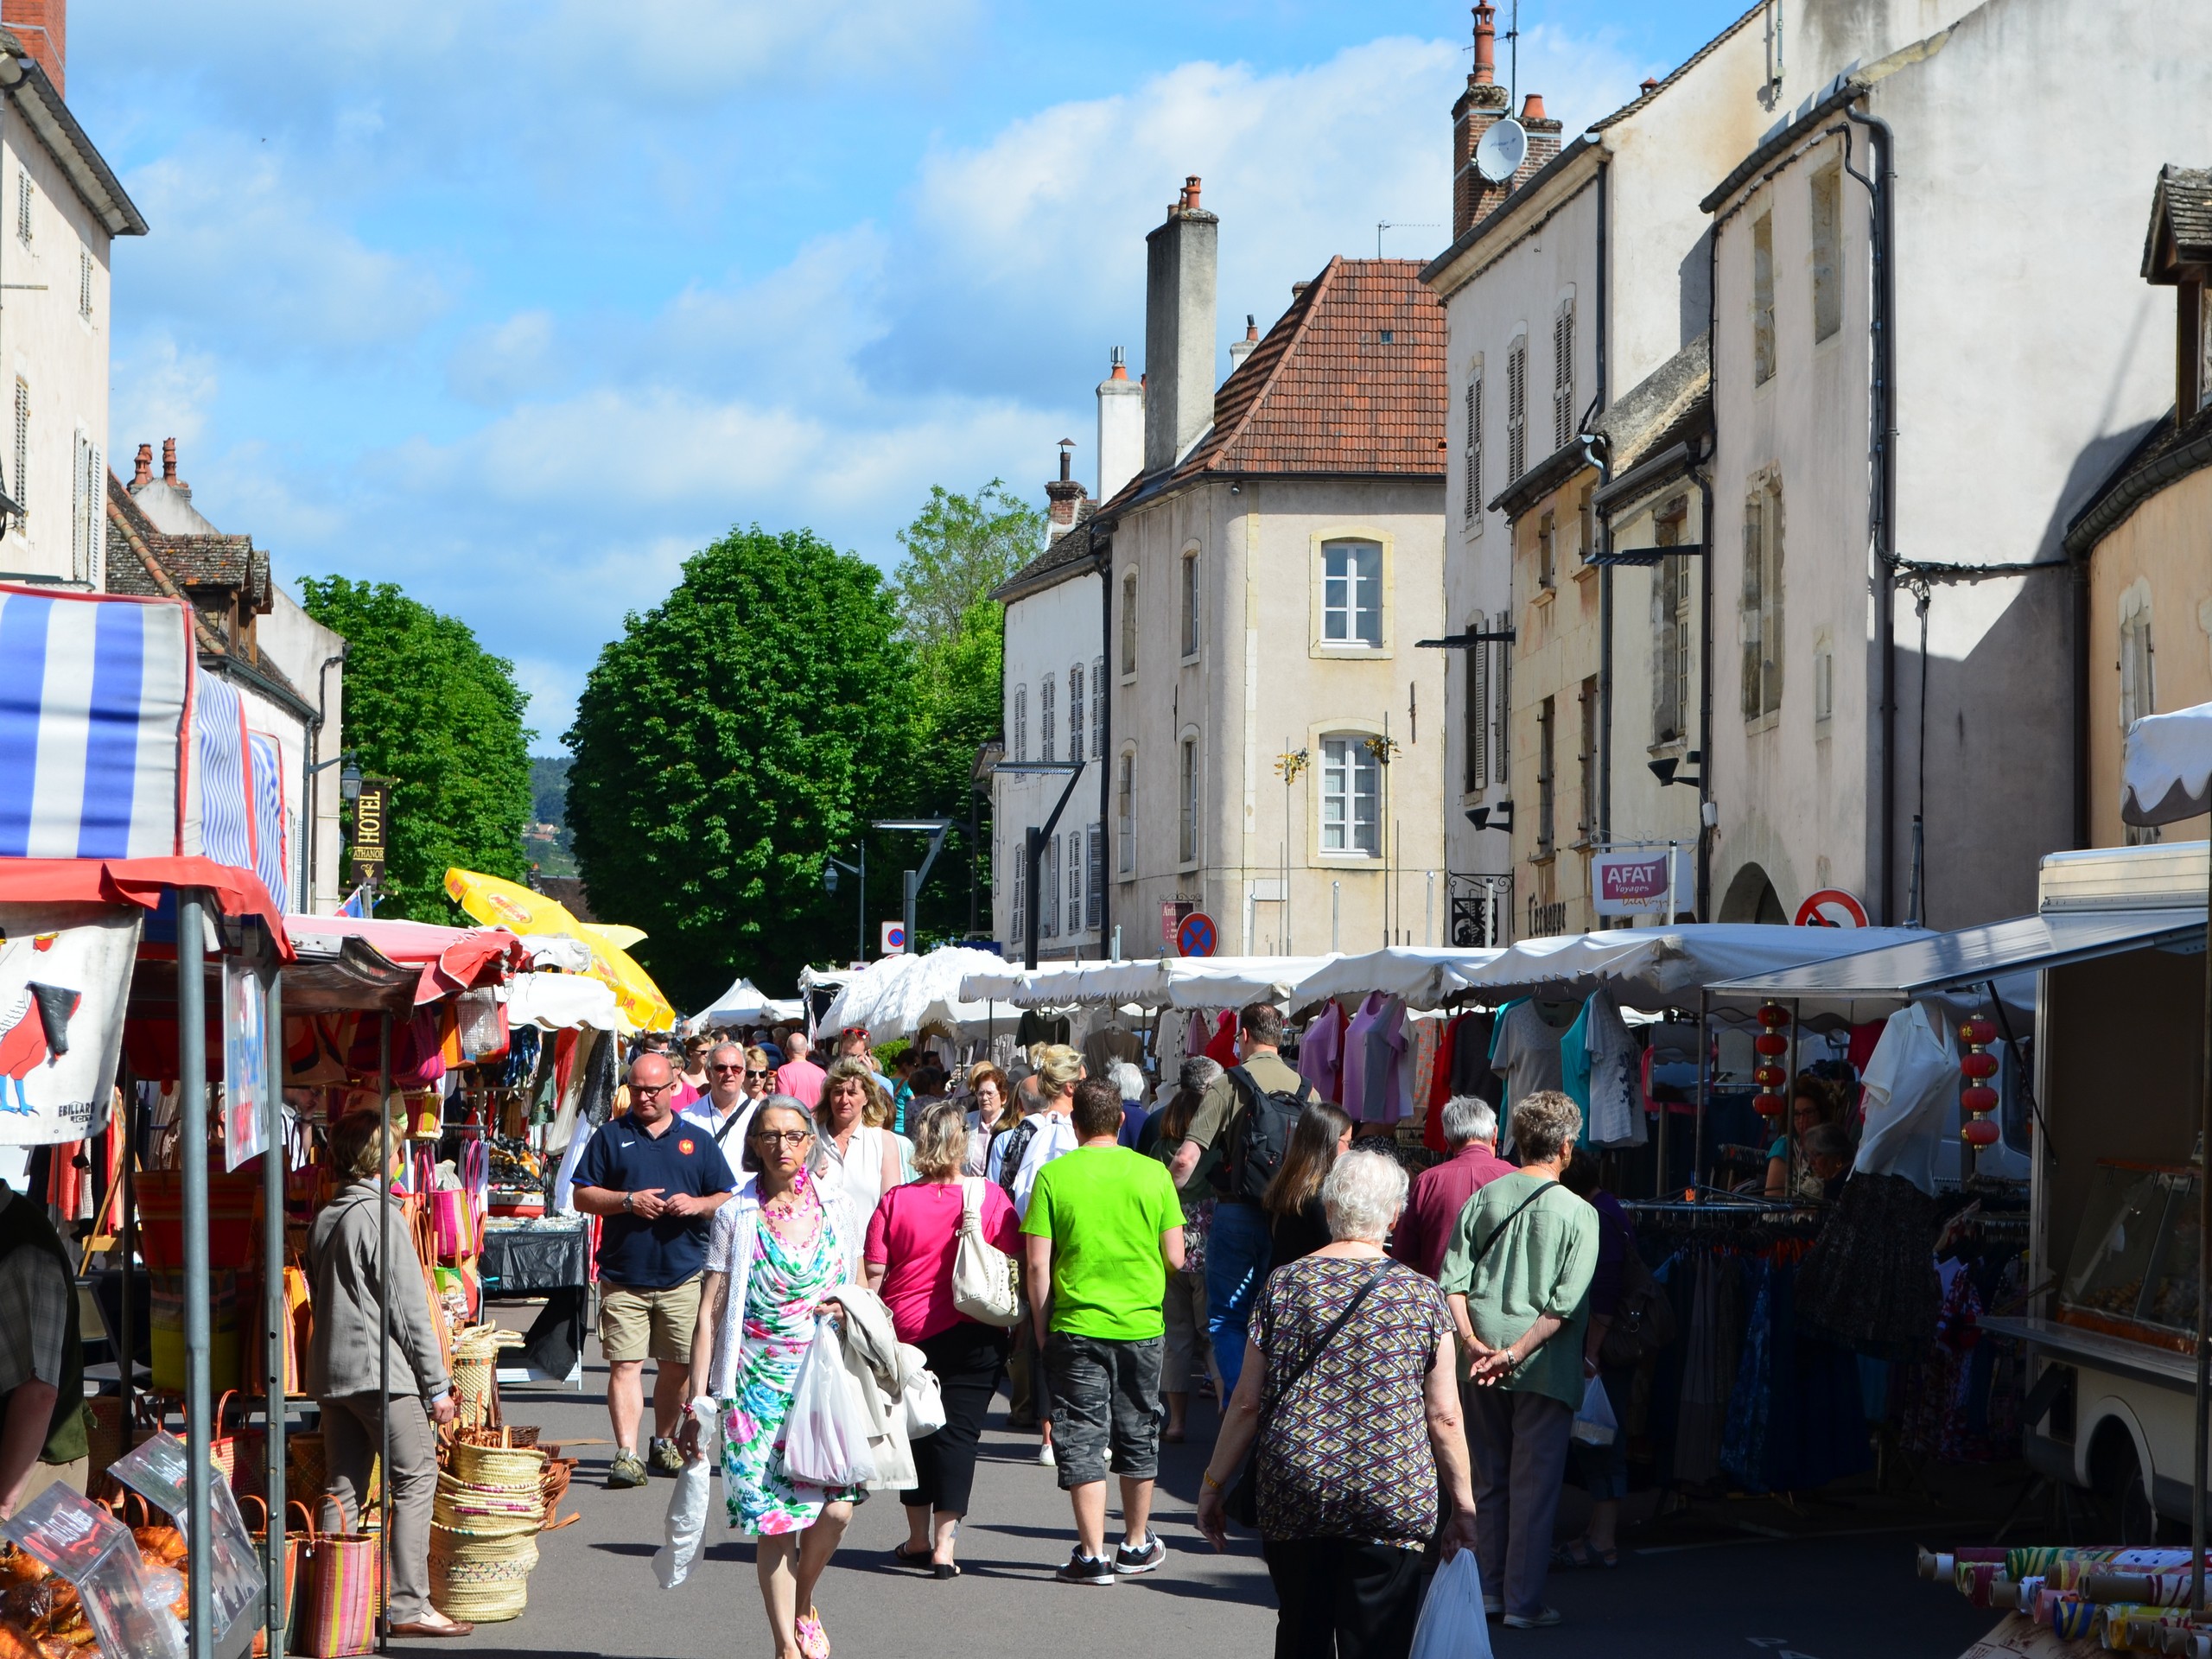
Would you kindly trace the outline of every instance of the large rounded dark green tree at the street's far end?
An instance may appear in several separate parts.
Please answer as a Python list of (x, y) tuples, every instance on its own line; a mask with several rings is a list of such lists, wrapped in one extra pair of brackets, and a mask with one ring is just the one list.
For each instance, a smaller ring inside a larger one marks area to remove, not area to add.
[(823, 856), (900, 810), (914, 732), (883, 573), (812, 531), (730, 531), (624, 619), (564, 737), (593, 909), (646, 929), (677, 1006), (843, 958), (854, 896), (823, 891)]

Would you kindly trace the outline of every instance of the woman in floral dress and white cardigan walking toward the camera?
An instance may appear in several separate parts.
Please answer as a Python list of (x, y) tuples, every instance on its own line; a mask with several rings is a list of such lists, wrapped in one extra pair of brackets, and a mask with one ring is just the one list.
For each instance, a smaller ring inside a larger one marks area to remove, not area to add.
[[(714, 1212), (692, 1338), (695, 1400), (714, 1405), (730, 1526), (759, 1537), (761, 1599), (776, 1659), (827, 1659), (814, 1606), (852, 1504), (783, 1467), (783, 1420), (799, 1363), (821, 1314), (843, 1318), (827, 1294), (858, 1279), (860, 1230), (834, 1186), (807, 1172), (814, 1119), (790, 1095), (772, 1095), (745, 1137), (748, 1177)], [(686, 1458), (706, 1455), (699, 1420), (686, 1418)]]

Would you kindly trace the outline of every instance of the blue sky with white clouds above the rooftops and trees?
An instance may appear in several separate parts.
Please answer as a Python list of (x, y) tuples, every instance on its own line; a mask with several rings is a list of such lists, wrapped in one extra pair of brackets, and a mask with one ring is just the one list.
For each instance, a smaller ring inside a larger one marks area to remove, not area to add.
[[(1573, 133), (1743, 4), (1524, 0), (1522, 91)], [(1057, 438), (1091, 473), (1186, 173), (1223, 349), (1378, 219), (1447, 219), (1467, 40), (1464, 4), (1301, 0), (80, 4), (71, 106), (153, 223), (108, 449), (175, 436), (285, 577), (467, 619), (560, 752), (730, 524), (891, 564), (933, 482), (1040, 495)]]

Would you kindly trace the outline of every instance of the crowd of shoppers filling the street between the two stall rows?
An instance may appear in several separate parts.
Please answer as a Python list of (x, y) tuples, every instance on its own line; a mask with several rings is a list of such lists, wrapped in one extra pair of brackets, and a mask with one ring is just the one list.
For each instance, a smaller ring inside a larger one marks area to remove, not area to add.
[(1279, 1655), (1409, 1652), (1462, 1548), (1489, 1617), (1557, 1624), (1546, 1575), (1617, 1559), (1626, 1491), (1617, 1447), (1575, 1447), (1593, 1517), (1555, 1546), (1577, 1409), (1593, 1378), (1626, 1391), (1604, 1352), (1632, 1239), (1582, 1108), (1522, 1097), (1506, 1159), (1498, 1108), (1451, 1097), (1447, 1157), (1409, 1177), (1283, 1042), (1250, 1004), (1230, 1064), (1148, 1091), (1057, 1042), (953, 1075), (860, 1029), (825, 1055), (796, 1029), (648, 1040), (562, 1181), (599, 1217), (608, 1486), (677, 1480), (664, 1584), (719, 1471), (776, 1659), (825, 1659), (816, 1590), (869, 1491), (905, 1506), (896, 1566), (960, 1577), (1000, 1394), (1068, 1495), (1060, 1582), (1157, 1573), (1159, 1447), (1210, 1396), (1197, 1524), (1259, 1533)]

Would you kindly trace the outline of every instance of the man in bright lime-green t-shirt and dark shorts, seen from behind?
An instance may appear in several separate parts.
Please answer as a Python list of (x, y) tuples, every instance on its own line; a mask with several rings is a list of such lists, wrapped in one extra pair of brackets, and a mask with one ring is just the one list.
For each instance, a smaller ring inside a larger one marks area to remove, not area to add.
[[(1117, 1146), (1121, 1093), (1075, 1086), (1075, 1148), (1037, 1170), (1022, 1221), (1044, 1371), (1053, 1385), (1060, 1489), (1075, 1504), (1062, 1584), (1113, 1584), (1168, 1559), (1152, 1535), (1159, 1473), (1161, 1303), (1183, 1265), (1183, 1203), (1157, 1159)], [(1126, 1540), (1106, 1555), (1106, 1453), (1121, 1478)]]

